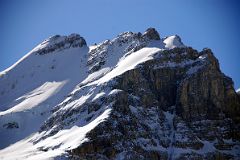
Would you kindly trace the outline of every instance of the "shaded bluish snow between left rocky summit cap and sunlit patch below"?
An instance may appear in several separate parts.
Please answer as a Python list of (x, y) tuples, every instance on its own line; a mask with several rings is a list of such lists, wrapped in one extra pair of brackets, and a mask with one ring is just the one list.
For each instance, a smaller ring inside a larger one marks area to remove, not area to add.
[(87, 75), (84, 58), (87, 52), (88, 48), (71, 48), (46, 55), (28, 54), (27, 58), (14, 64), (15, 67), (5, 70), (7, 74), (0, 78), (0, 111), (13, 107), (16, 99), (46, 82), (67, 81), (62, 90), (65, 94), (70, 92)]

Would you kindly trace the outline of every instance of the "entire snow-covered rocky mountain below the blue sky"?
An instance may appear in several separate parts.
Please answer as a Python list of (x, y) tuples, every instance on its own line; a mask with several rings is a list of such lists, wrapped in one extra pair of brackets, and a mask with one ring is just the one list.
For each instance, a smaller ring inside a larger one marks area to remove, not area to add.
[(238, 159), (239, 111), (211, 50), (177, 35), (56, 35), (0, 73), (0, 159)]

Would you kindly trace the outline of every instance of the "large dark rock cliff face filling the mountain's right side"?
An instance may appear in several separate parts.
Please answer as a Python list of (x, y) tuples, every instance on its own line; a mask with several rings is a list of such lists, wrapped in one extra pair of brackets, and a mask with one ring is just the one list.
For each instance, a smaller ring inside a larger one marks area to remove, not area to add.
[(239, 151), (239, 97), (210, 49), (160, 51), (111, 89), (110, 117), (73, 157), (231, 159)]

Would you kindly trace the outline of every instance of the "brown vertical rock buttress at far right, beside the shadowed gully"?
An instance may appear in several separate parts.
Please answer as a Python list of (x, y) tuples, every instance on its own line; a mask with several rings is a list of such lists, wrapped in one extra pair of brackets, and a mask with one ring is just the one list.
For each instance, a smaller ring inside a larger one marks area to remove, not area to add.
[(204, 50), (208, 65), (181, 81), (178, 89), (179, 113), (187, 120), (222, 119), (223, 115), (239, 122), (240, 103), (233, 82), (220, 72), (211, 50)]

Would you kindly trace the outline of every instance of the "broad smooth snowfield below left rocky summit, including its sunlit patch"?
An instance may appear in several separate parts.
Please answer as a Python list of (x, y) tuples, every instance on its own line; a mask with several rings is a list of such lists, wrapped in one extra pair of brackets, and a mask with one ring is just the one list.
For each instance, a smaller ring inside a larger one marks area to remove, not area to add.
[[(87, 77), (87, 53), (88, 47), (45, 55), (31, 51), (2, 72), (0, 149), (39, 130), (50, 110)], [(8, 123), (17, 123), (19, 128), (4, 128)]]

